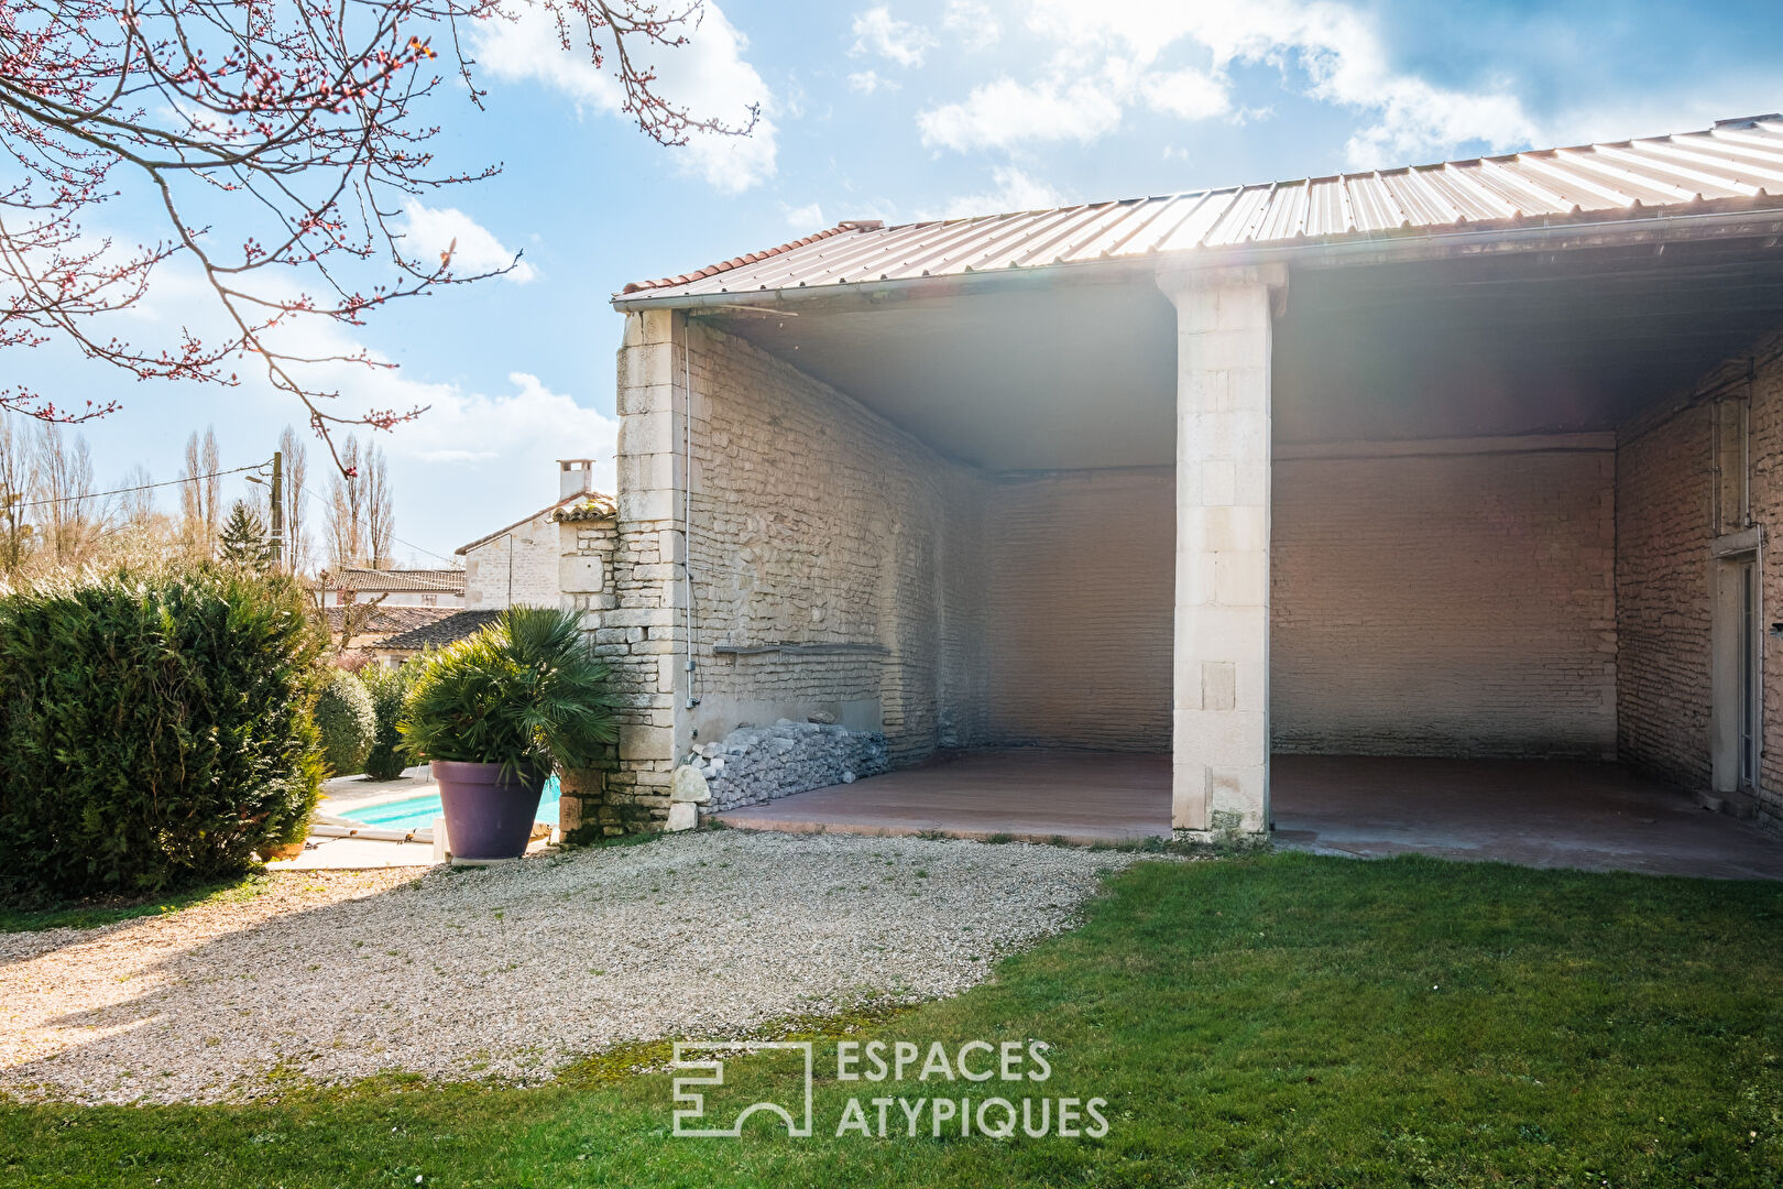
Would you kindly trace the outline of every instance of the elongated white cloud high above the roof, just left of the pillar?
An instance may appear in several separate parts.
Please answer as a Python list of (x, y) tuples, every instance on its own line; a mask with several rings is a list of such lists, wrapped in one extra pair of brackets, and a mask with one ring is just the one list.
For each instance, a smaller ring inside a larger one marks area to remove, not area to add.
[(997, 78), (961, 103), (920, 112), (916, 127), (924, 144), (965, 153), (1022, 141), (1089, 143), (1118, 128), (1120, 118), (1120, 100), (1088, 78), (1063, 86)]

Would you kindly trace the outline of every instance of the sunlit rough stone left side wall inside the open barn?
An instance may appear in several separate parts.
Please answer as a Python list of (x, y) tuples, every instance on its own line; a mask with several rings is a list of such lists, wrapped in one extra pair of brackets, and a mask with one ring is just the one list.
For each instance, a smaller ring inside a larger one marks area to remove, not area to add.
[(943, 638), (972, 615), (950, 603), (943, 560), (957, 558), (956, 512), (970, 533), (979, 481), (740, 339), (695, 326), (692, 346), (690, 742), (827, 713), (883, 729), (900, 763), (929, 754)]

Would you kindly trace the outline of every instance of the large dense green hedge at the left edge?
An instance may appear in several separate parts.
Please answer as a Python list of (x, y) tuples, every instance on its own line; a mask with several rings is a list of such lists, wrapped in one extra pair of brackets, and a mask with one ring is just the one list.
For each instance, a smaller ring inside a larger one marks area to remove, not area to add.
[(289, 579), (218, 569), (0, 597), (0, 897), (144, 897), (296, 841), (321, 638)]

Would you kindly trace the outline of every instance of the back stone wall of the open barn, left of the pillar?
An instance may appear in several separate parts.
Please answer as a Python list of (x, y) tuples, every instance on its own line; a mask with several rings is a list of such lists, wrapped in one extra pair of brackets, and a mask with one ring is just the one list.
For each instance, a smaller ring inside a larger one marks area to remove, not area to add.
[(988, 522), (984, 740), (1168, 752), (1175, 471), (1004, 476)]

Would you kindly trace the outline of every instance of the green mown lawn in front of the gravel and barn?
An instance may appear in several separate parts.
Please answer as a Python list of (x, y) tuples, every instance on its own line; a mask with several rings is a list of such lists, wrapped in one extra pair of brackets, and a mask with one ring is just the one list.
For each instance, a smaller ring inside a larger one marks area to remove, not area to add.
[(1783, 1185), (1778, 884), (1430, 859), (1145, 863), (995, 986), (854, 1036), (1045, 1039), (1052, 1078), (1015, 1091), (1107, 1098), (1109, 1134), (933, 1139), (925, 1123), (909, 1139), (893, 1111), (897, 1137), (838, 1139), (850, 1095), (936, 1084), (838, 1084), (820, 1041), (813, 1139), (672, 1137), (669, 1077), (608, 1061), (549, 1089), (7, 1109), (0, 1180)]

